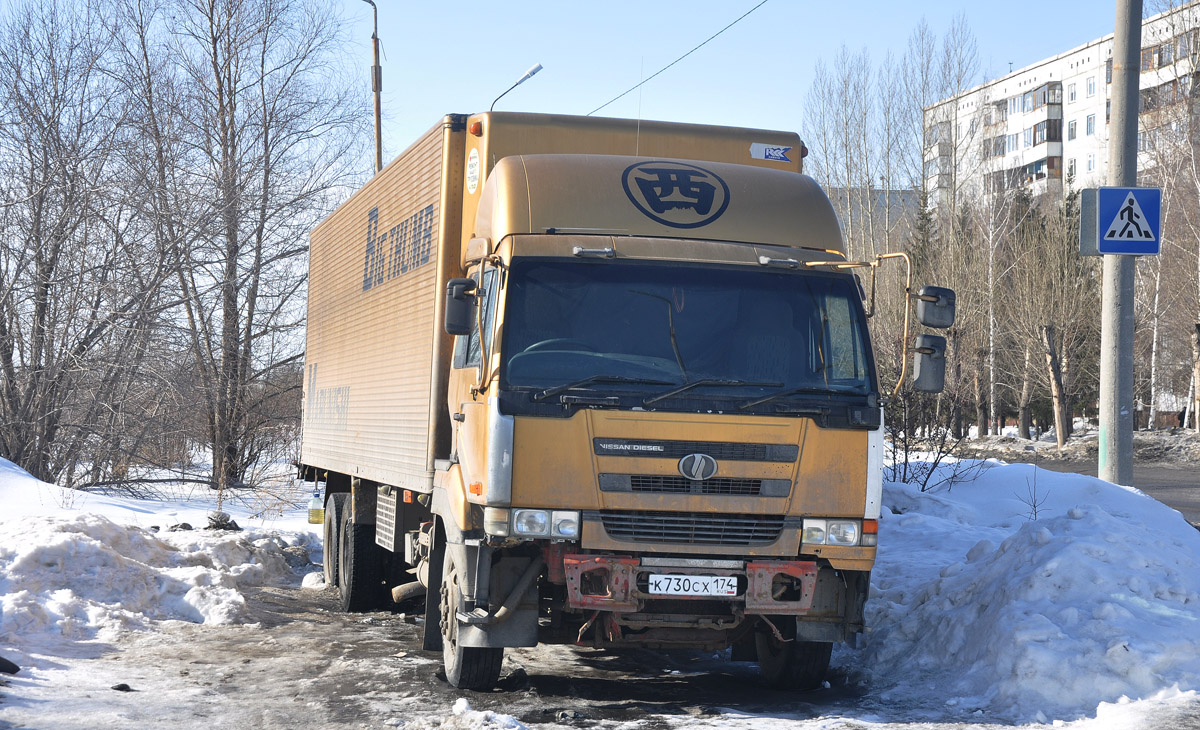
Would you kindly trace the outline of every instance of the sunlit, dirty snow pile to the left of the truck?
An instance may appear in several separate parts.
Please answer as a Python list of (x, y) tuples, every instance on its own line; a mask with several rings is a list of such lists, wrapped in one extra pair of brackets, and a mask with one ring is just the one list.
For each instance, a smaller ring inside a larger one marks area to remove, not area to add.
[[(134, 501), (82, 497), (118, 519), (145, 511)], [(73, 498), (0, 460), (0, 501), (22, 515), (0, 522), (4, 645), (41, 653), (46, 645), (112, 640), (155, 621), (242, 622), (242, 591), (299, 581), (289, 560), (302, 567), (314, 540), (307, 532), (175, 532), (161, 519), (156, 533), (76, 511)]]

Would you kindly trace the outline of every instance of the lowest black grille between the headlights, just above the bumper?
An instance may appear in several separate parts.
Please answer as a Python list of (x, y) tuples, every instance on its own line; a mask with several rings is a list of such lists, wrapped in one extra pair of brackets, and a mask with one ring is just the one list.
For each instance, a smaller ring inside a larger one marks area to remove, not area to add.
[(616, 540), (676, 545), (769, 545), (784, 529), (782, 515), (604, 510), (600, 521)]

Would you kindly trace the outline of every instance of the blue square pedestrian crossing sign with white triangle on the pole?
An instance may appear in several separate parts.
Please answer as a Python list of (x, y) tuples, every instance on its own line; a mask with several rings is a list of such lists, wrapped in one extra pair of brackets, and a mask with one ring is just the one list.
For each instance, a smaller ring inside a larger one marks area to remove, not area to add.
[(1096, 196), (1096, 249), (1099, 253), (1158, 256), (1162, 219), (1162, 189), (1100, 187)]

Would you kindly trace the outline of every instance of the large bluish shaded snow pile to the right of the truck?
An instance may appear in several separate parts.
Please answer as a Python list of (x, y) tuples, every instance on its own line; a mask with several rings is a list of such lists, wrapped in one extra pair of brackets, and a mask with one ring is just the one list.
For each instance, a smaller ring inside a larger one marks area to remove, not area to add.
[(938, 492), (886, 486), (876, 692), (1043, 720), (1200, 689), (1200, 532), (1136, 490), (989, 467)]

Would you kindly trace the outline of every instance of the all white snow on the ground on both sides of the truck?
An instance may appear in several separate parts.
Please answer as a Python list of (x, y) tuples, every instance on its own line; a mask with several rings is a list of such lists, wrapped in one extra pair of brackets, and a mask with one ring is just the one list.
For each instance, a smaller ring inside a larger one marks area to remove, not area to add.
[[(858, 648), (834, 654), (835, 672), (871, 702), (835, 704), (817, 719), (715, 708), (646, 723), (883, 728), (895, 725), (881, 707), (907, 707), (920, 722), (954, 726), (1108, 730), (1156, 726), (1196, 707), (1200, 532), (1174, 509), (1099, 479), (998, 461), (964, 466), (938, 466), (942, 477), (966, 479), (935, 478), (925, 492), (884, 486), (871, 630)], [(274, 510), (229, 499), (226, 510), (244, 529), (210, 531), (208, 490), (150, 501), (72, 492), (0, 460), (0, 656), (30, 680), (0, 683), (0, 726), (49, 726), (37, 719), (54, 696), (47, 687), (91, 671), (89, 663), (131, 638), (152, 642), (175, 624), (247, 624), (245, 593), (256, 587), (322, 588), (308, 563), (320, 558), (319, 528), (305, 520), (306, 496), (292, 497)], [(197, 529), (170, 529), (180, 522)], [(85, 718), (114, 701), (89, 696), (59, 707)], [(170, 717), (179, 696), (156, 696), (143, 693), (139, 717)], [(805, 701), (820, 701), (812, 696)], [(388, 724), (526, 728), (467, 699), (406, 704)]]

